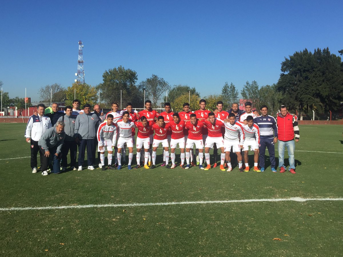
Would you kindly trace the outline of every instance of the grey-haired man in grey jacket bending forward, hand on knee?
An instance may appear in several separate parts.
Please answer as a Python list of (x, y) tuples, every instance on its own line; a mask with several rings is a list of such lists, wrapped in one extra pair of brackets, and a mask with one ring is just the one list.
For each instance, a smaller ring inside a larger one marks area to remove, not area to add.
[(56, 122), (56, 126), (50, 127), (38, 141), (39, 151), (43, 156), (41, 163), (43, 176), (48, 175), (48, 166), (51, 160), (52, 172), (54, 174), (61, 172), (59, 159), (64, 138), (66, 137), (66, 133), (63, 130), (64, 122), (58, 121)]

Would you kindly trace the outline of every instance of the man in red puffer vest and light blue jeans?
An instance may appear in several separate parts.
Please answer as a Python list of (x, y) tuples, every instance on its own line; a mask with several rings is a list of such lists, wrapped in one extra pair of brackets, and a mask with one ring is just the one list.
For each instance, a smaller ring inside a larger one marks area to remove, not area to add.
[(298, 117), (292, 115), (287, 111), (286, 106), (281, 106), (281, 112), (276, 117), (276, 123), (278, 128), (278, 150), (279, 150), (279, 167), (280, 173), (286, 171), (286, 166), (284, 163), (285, 148), (288, 150), (288, 161), (289, 169), (288, 171), (295, 174), (295, 160), (294, 160), (294, 136), (295, 142), (299, 142), (299, 127), (298, 127)]

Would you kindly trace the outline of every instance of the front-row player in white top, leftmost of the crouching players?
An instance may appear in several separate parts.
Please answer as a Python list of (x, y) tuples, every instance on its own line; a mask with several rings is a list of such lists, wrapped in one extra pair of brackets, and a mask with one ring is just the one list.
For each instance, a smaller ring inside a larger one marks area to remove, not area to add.
[(96, 138), (98, 140), (98, 152), (100, 152), (101, 162), (101, 164), (99, 164), (99, 168), (101, 168), (102, 170), (106, 170), (105, 149), (107, 149), (108, 168), (115, 170), (116, 168), (112, 166), (112, 155), (113, 147), (116, 146), (117, 125), (113, 123), (112, 114), (108, 114), (107, 121), (104, 121), (99, 125), (98, 131), (96, 133)]

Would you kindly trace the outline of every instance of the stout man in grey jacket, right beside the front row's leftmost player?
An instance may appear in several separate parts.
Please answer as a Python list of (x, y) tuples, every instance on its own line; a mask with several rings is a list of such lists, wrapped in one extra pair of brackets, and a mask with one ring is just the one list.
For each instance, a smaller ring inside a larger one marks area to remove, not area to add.
[(82, 166), (85, 158), (85, 151), (87, 147), (87, 162), (88, 170), (94, 170), (94, 144), (96, 130), (95, 126), (99, 122), (99, 118), (96, 113), (91, 113), (91, 105), (86, 103), (83, 107), (84, 113), (79, 114), (75, 120), (75, 138), (76, 143), (79, 144), (79, 168), (82, 170)]

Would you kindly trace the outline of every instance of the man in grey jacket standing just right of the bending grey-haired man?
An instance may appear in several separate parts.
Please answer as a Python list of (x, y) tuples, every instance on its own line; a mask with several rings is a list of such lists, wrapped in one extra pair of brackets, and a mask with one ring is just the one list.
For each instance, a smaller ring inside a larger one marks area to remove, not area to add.
[(62, 146), (62, 171), (65, 171), (68, 162), (67, 156), (70, 150), (70, 168), (72, 170), (77, 170), (76, 167), (76, 152), (78, 151), (78, 145), (75, 141), (74, 129), (75, 129), (75, 120), (76, 116), (72, 115), (73, 108), (71, 106), (66, 106), (65, 108), (66, 115), (60, 117), (58, 121), (63, 121), (66, 125), (64, 126), (64, 132), (66, 132), (66, 139)]

